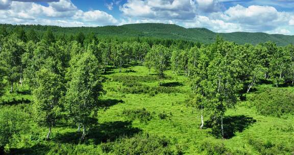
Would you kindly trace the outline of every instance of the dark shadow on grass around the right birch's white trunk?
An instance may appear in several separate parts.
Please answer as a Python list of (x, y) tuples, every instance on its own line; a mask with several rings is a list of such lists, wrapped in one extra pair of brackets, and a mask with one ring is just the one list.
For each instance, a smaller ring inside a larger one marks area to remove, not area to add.
[[(235, 136), (236, 132), (243, 132), (246, 128), (255, 123), (256, 120), (253, 117), (247, 117), (244, 115), (238, 116), (226, 116), (223, 118), (224, 124), (224, 138), (230, 139)], [(205, 127), (212, 128), (210, 132), (216, 138), (222, 138), (222, 131), (220, 130), (220, 121), (217, 124), (212, 124), (211, 121), (205, 122)]]

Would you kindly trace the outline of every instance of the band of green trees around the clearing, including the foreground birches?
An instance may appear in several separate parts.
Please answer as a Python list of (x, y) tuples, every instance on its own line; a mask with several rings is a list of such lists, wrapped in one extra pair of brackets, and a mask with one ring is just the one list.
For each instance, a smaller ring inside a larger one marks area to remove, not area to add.
[(201, 111), (201, 128), (207, 114), (221, 124), (223, 136), (224, 114), (236, 105), (242, 88), (250, 92), (262, 81), (271, 81), (276, 87), (294, 83), (293, 45), (238, 45), (219, 37), (210, 45), (140, 38), (122, 41), (83, 33), (69, 41), (56, 37), (50, 29), (42, 38), (33, 30), (25, 32), (18, 27), (0, 32), (0, 94), (7, 85), (6, 91), (12, 93), (15, 85), (19, 88), (28, 83), (35, 121), (48, 128), (46, 139), (61, 113), (66, 113), (78, 131), (82, 130), (84, 140), (87, 129), (96, 122), (97, 111), (106, 108), (100, 97), (106, 93), (103, 73), (109, 66), (121, 71), (126, 65), (144, 65), (161, 79), (170, 68), (184, 74), (191, 83), (191, 104)]

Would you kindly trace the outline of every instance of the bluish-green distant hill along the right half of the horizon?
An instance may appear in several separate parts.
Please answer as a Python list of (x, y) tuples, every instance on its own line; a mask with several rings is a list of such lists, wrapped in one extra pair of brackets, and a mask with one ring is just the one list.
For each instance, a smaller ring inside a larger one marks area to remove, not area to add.
[(266, 41), (276, 42), (278, 45), (294, 44), (294, 36), (287, 35), (269, 35), (266, 33), (248, 33), (248, 32), (234, 32), (234, 33), (214, 33), (205, 28), (190, 28), (186, 29), (175, 24), (162, 23), (138, 23), (126, 24), (120, 27), (129, 28), (143, 33), (143, 36), (170, 38), (170, 39), (184, 39), (199, 41), (202, 43), (214, 42), (217, 35), (222, 36), (225, 40), (234, 41), (238, 44), (258, 44)]

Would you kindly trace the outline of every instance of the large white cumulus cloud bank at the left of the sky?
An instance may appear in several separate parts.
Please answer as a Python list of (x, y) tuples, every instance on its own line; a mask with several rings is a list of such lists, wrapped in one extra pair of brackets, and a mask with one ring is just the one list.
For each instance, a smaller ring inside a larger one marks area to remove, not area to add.
[[(0, 0), (0, 22), (12, 24), (49, 24), (66, 27), (84, 25), (116, 24), (117, 20), (110, 14), (100, 11), (82, 11), (70, 0), (46, 1), (43, 6), (37, 1), (8, 1)], [(40, 2), (40, 1), (38, 1)], [(43, 1), (44, 2), (44, 1)], [(5, 5), (4, 5), (5, 4)]]

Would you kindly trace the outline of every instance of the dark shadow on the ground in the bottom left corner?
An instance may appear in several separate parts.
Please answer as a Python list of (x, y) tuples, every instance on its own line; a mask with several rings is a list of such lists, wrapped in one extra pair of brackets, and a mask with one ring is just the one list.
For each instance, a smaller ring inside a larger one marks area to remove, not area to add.
[(28, 148), (10, 148), (9, 154), (39, 155), (39, 154), (46, 154), (49, 150), (50, 148), (45, 145), (35, 145)]

